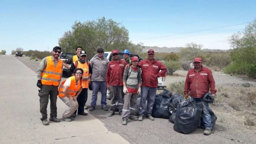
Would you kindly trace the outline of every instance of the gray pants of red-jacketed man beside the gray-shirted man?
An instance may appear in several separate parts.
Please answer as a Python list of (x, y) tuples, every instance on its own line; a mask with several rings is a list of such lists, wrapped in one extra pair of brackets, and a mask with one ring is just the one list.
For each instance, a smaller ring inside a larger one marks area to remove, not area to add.
[(118, 94), (118, 104), (119, 104), (119, 112), (123, 110), (123, 105), (124, 105), (124, 92), (123, 92), (124, 87), (123, 86), (110, 86), (110, 111), (115, 112), (116, 109), (116, 93)]

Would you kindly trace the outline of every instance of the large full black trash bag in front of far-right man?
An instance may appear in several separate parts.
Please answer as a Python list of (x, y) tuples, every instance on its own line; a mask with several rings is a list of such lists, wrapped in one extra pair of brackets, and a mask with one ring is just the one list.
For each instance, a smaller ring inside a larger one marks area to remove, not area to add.
[(187, 99), (179, 103), (173, 129), (179, 133), (191, 133), (197, 129), (200, 120), (203, 105), (201, 102), (191, 101)]

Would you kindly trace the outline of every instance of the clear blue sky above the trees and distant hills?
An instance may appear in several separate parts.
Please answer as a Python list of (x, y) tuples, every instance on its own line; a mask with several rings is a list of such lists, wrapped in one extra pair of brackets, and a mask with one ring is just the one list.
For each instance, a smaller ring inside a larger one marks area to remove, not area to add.
[(52, 50), (76, 20), (103, 16), (122, 23), (135, 44), (230, 49), (228, 37), (256, 19), (256, 0), (1, 0), (0, 50)]

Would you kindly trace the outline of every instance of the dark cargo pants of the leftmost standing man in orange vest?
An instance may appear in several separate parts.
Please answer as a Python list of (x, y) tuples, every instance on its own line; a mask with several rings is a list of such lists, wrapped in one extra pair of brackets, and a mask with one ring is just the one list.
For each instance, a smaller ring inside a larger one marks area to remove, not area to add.
[(42, 85), (38, 96), (40, 97), (40, 113), (42, 117), (40, 118), (42, 121), (47, 119), (47, 105), (49, 102), (50, 95), (50, 116), (57, 117), (57, 95), (58, 95), (58, 86), (54, 85)]

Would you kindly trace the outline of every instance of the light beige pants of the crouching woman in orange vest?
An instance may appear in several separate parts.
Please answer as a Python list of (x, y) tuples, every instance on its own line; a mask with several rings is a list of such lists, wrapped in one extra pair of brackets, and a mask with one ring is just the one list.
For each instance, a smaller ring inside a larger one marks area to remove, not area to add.
[(62, 114), (63, 118), (68, 118), (70, 117), (78, 108), (78, 102), (77, 100), (70, 100), (68, 97), (60, 97), (60, 99), (68, 106), (68, 109), (64, 111)]

